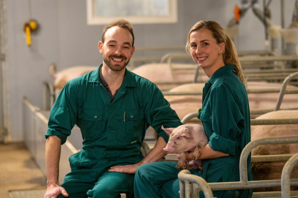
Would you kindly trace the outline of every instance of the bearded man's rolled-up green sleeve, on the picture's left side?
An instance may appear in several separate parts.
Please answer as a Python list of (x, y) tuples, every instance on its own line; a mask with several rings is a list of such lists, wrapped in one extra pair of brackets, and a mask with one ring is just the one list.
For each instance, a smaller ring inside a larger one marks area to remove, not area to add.
[(72, 87), (67, 83), (51, 109), (45, 138), (58, 136), (61, 139), (61, 144), (66, 142), (67, 136), (70, 135), (76, 123), (76, 98)]

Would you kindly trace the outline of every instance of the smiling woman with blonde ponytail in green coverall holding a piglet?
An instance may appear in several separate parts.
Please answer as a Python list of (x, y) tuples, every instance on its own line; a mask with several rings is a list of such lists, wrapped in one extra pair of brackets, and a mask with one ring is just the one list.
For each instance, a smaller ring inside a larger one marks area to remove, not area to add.
[[(199, 159), (203, 172), (190, 170), (208, 183), (240, 181), (239, 161), (250, 142), (250, 114), (245, 81), (232, 40), (215, 21), (199, 21), (187, 37), (186, 51), (209, 77), (198, 119), (208, 138)], [(192, 159), (193, 153), (188, 154)], [(137, 169), (135, 197), (179, 197), (177, 162), (156, 162)], [(248, 179), (252, 180), (250, 156)], [(213, 191), (214, 197), (251, 197), (252, 189)], [(200, 197), (204, 197), (200, 192)]]

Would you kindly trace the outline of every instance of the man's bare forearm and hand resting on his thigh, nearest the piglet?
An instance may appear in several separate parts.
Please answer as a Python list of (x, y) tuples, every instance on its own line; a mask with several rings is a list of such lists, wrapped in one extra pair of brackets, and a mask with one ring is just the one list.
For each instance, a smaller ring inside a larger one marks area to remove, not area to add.
[(137, 164), (132, 165), (125, 165), (125, 166), (113, 166), (109, 169), (109, 171), (118, 171), (118, 172), (126, 172), (134, 174), (136, 173), (136, 169), (146, 163), (156, 162), (163, 158), (166, 153), (164, 152), (163, 148), (166, 147), (167, 143), (164, 141), (162, 137), (159, 137), (156, 141), (156, 144), (152, 148), (152, 150), (145, 156), (142, 161)]

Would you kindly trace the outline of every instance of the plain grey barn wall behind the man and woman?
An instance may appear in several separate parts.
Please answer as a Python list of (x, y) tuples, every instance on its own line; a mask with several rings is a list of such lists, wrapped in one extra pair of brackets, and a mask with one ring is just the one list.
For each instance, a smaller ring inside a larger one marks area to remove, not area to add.
[[(263, 1), (260, 1), (260, 6)], [(285, 1), (285, 25), (291, 21), (294, 0)], [(42, 82), (53, 81), (48, 74), (54, 62), (58, 70), (75, 65), (99, 65), (102, 55), (97, 44), (103, 26), (89, 26), (84, 0), (7, 0), (6, 69), (9, 81), (9, 134), (11, 140), (22, 141), (22, 97), (42, 107)], [(189, 29), (200, 20), (215, 20), (225, 26), (233, 17), (236, 0), (178, 0), (178, 22), (175, 24), (135, 24), (135, 46), (185, 45)], [(280, 1), (271, 3), (272, 20), (280, 25)], [(104, 8), (103, 8), (104, 9)], [(23, 31), (24, 22), (38, 21), (28, 47)], [(238, 50), (262, 50), (264, 27), (251, 10), (241, 19), (235, 39)]]

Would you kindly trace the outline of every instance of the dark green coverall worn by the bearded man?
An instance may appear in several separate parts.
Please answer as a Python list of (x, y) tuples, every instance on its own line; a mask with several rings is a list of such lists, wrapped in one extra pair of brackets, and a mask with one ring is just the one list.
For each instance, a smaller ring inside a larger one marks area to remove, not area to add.
[(99, 68), (66, 83), (51, 109), (45, 134), (46, 138), (58, 136), (63, 144), (73, 126), (80, 127), (82, 150), (69, 157), (72, 171), (61, 184), (69, 198), (117, 197), (119, 193), (130, 197), (134, 174), (107, 170), (142, 160), (140, 148), (149, 125), (167, 142), (161, 126), (182, 124), (156, 85), (127, 69), (111, 102), (100, 82)]

